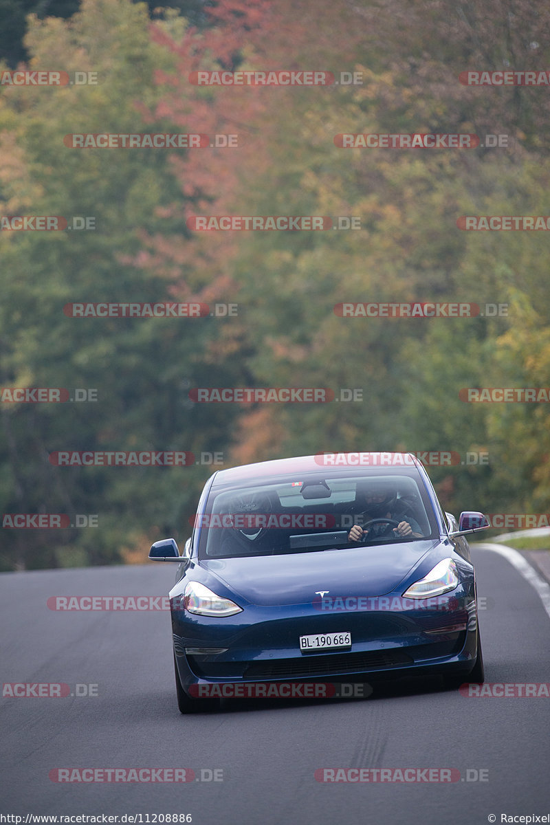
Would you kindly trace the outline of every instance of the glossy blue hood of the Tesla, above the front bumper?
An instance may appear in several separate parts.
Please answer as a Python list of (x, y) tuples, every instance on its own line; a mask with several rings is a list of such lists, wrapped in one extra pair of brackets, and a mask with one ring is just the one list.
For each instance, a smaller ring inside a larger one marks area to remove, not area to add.
[(311, 603), (319, 591), (328, 591), (331, 598), (390, 593), (438, 544), (439, 540), (425, 540), (278, 556), (203, 559), (200, 567), (219, 578), (237, 599), (240, 596), (251, 604), (265, 606), (297, 605)]

